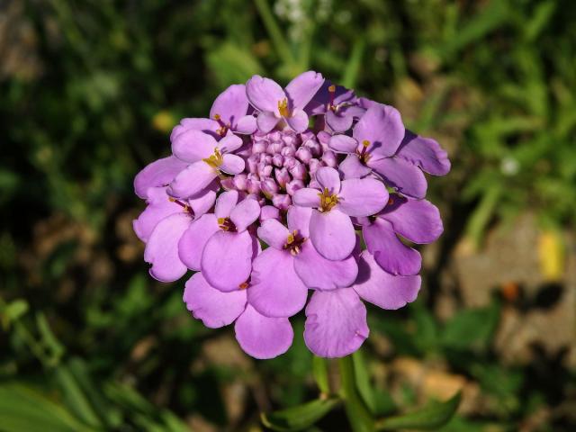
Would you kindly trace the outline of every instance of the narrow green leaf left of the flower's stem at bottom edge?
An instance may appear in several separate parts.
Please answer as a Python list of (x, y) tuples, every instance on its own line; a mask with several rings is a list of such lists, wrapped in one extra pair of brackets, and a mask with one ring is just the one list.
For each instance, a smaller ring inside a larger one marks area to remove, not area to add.
[(262, 413), (262, 423), (266, 428), (274, 430), (302, 430), (310, 428), (322, 419), (330, 410), (333, 410), (340, 400), (338, 398), (319, 399), (270, 413)]

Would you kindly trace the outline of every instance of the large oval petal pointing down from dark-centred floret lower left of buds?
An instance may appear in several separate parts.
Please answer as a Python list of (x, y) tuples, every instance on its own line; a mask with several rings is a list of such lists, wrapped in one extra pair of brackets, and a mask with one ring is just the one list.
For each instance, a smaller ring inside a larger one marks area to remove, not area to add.
[(218, 231), (204, 246), (202, 274), (220, 291), (238, 290), (252, 270), (253, 238), (247, 231)]

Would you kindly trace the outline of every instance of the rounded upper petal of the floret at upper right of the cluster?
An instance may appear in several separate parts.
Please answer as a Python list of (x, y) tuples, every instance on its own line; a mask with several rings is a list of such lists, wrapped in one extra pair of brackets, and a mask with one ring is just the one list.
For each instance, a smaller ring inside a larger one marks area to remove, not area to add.
[(404, 138), (404, 124), (398, 110), (382, 103), (370, 107), (354, 127), (354, 138), (370, 143), (368, 151), (383, 157), (392, 156)]

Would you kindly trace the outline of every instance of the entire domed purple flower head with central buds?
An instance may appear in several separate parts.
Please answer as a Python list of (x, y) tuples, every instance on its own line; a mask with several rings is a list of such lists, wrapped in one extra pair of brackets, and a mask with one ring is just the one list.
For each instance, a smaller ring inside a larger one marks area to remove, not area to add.
[(170, 139), (172, 156), (134, 181), (150, 275), (197, 272), (188, 310), (210, 328), (234, 322), (250, 356), (283, 354), (307, 301), (306, 345), (339, 357), (368, 337), (363, 300), (392, 310), (416, 299), (421, 259), (401, 238), (442, 233), (423, 171), (446, 175), (450, 162), (392, 106), (312, 71), (284, 89), (253, 76)]

